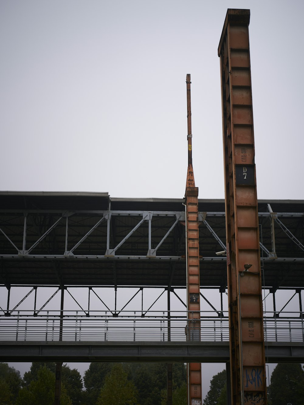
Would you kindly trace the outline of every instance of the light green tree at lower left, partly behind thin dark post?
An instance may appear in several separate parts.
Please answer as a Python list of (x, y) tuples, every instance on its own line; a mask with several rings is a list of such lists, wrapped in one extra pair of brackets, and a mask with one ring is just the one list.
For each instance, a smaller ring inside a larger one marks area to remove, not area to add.
[[(15, 405), (54, 405), (55, 398), (55, 374), (46, 366), (41, 366), (37, 373), (37, 379), (32, 380), (28, 387), (19, 390)], [(72, 405), (72, 401), (64, 386), (61, 387), (60, 403)]]

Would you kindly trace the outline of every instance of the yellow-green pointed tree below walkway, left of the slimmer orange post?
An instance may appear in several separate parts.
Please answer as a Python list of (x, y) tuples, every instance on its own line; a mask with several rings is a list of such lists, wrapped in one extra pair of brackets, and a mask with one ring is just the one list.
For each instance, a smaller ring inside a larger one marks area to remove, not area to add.
[(115, 364), (105, 377), (96, 405), (137, 405), (136, 396), (135, 385), (128, 380), (122, 364)]

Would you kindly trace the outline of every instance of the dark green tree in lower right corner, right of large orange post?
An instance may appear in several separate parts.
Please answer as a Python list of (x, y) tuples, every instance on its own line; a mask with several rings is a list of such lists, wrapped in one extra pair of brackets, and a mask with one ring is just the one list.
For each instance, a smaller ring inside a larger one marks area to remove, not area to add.
[(278, 363), (270, 378), (270, 405), (304, 405), (304, 371), (300, 363)]

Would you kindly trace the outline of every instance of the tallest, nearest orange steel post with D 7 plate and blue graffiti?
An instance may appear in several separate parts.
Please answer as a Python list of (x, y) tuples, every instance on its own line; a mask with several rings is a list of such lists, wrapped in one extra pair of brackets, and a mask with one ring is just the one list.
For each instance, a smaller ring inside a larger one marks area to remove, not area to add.
[(265, 405), (265, 347), (248, 26), (228, 9), (221, 62), (231, 403)]

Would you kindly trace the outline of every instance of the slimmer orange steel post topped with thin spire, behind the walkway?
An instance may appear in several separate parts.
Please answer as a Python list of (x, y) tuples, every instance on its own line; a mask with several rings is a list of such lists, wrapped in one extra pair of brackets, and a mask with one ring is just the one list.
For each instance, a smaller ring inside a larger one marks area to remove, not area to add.
[[(192, 166), (191, 133), (191, 92), (190, 75), (187, 83), (187, 119), (188, 119), (188, 172), (185, 193), (186, 232), (187, 232), (187, 340), (200, 340), (200, 300), (199, 300), (199, 224), (198, 195), (195, 187)], [(191, 405), (201, 405), (201, 364), (188, 364), (188, 400)]]

